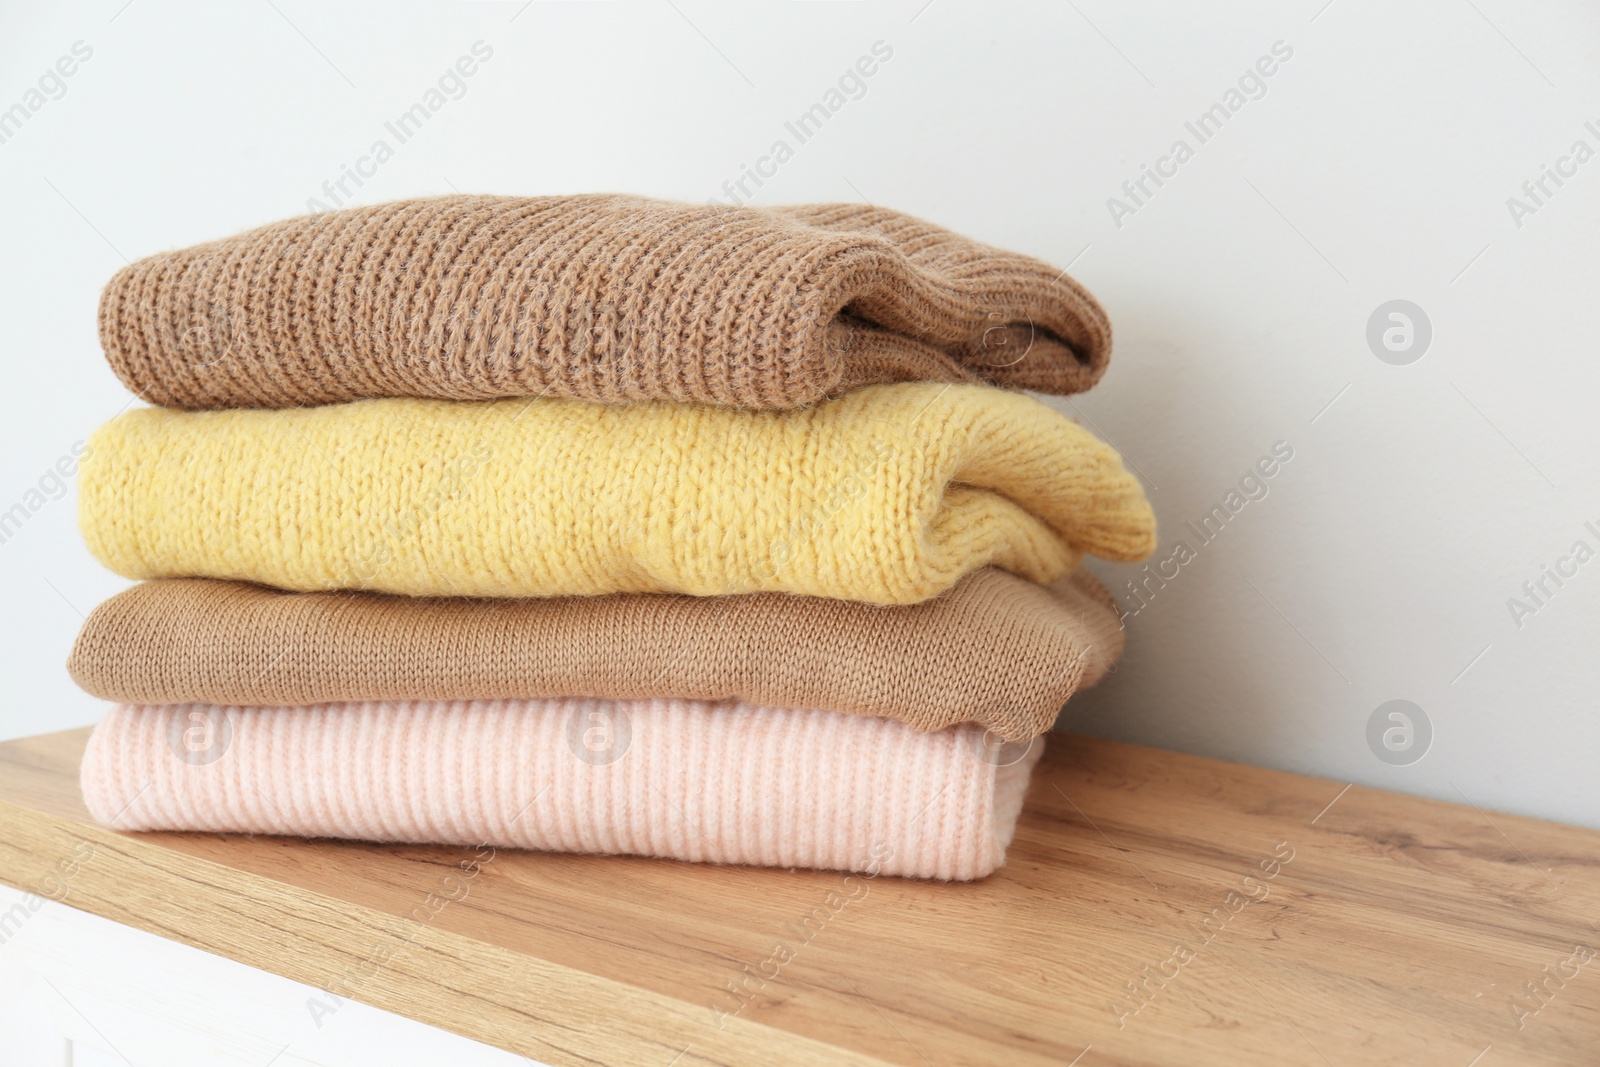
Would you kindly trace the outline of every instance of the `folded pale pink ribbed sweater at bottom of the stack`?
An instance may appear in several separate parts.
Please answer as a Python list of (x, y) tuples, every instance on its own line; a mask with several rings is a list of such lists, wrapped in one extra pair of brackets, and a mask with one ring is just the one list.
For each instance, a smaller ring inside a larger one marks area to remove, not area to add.
[(982, 878), (1043, 739), (694, 701), (117, 705), (83, 800), (122, 830), (291, 833)]

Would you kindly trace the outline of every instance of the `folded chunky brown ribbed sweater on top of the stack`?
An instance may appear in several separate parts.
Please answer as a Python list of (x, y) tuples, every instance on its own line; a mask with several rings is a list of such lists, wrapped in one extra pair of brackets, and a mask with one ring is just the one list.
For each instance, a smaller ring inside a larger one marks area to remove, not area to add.
[(886, 381), (1070, 394), (1110, 325), (1066, 272), (859, 205), (621, 195), (349, 208), (141, 259), (101, 344), (173, 408), (370, 397), (794, 408)]

